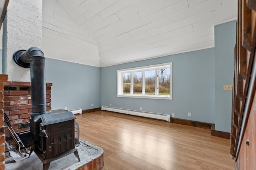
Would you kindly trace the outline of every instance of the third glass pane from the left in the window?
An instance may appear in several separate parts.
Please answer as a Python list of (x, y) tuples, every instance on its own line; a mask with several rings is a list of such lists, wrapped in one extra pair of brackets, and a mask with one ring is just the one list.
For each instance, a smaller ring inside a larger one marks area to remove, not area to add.
[(145, 71), (145, 94), (156, 94), (156, 70)]

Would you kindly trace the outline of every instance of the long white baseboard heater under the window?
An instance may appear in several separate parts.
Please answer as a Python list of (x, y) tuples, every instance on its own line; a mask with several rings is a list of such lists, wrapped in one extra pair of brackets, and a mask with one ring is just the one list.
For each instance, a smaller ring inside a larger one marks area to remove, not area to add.
[(146, 111), (120, 109), (120, 108), (108, 107), (108, 106), (102, 106), (101, 110), (114, 111), (114, 112), (118, 112), (118, 113), (125, 113), (125, 114), (128, 114), (128, 115), (149, 117), (149, 118), (153, 118), (153, 119), (161, 119), (161, 120), (166, 120), (166, 121), (170, 122), (170, 115), (162, 114), (162, 113), (151, 113), (151, 112), (146, 112)]

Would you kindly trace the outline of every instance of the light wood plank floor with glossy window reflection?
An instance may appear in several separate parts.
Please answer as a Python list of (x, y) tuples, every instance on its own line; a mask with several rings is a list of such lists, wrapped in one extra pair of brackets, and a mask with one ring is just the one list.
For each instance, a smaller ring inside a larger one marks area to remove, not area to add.
[(209, 129), (108, 111), (76, 118), (80, 138), (104, 150), (103, 170), (234, 170), (229, 140)]

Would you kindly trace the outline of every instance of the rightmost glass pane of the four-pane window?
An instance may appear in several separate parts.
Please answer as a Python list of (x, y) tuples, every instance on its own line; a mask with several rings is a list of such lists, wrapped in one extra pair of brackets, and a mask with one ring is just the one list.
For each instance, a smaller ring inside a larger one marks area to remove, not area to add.
[(170, 68), (158, 69), (159, 95), (170, 95)]

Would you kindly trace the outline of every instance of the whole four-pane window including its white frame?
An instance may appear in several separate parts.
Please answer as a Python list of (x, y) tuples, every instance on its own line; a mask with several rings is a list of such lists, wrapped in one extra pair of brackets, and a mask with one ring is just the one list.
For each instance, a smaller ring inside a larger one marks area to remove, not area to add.
[(118, 97), (172, 100), (172, 63), (117, 70)]

